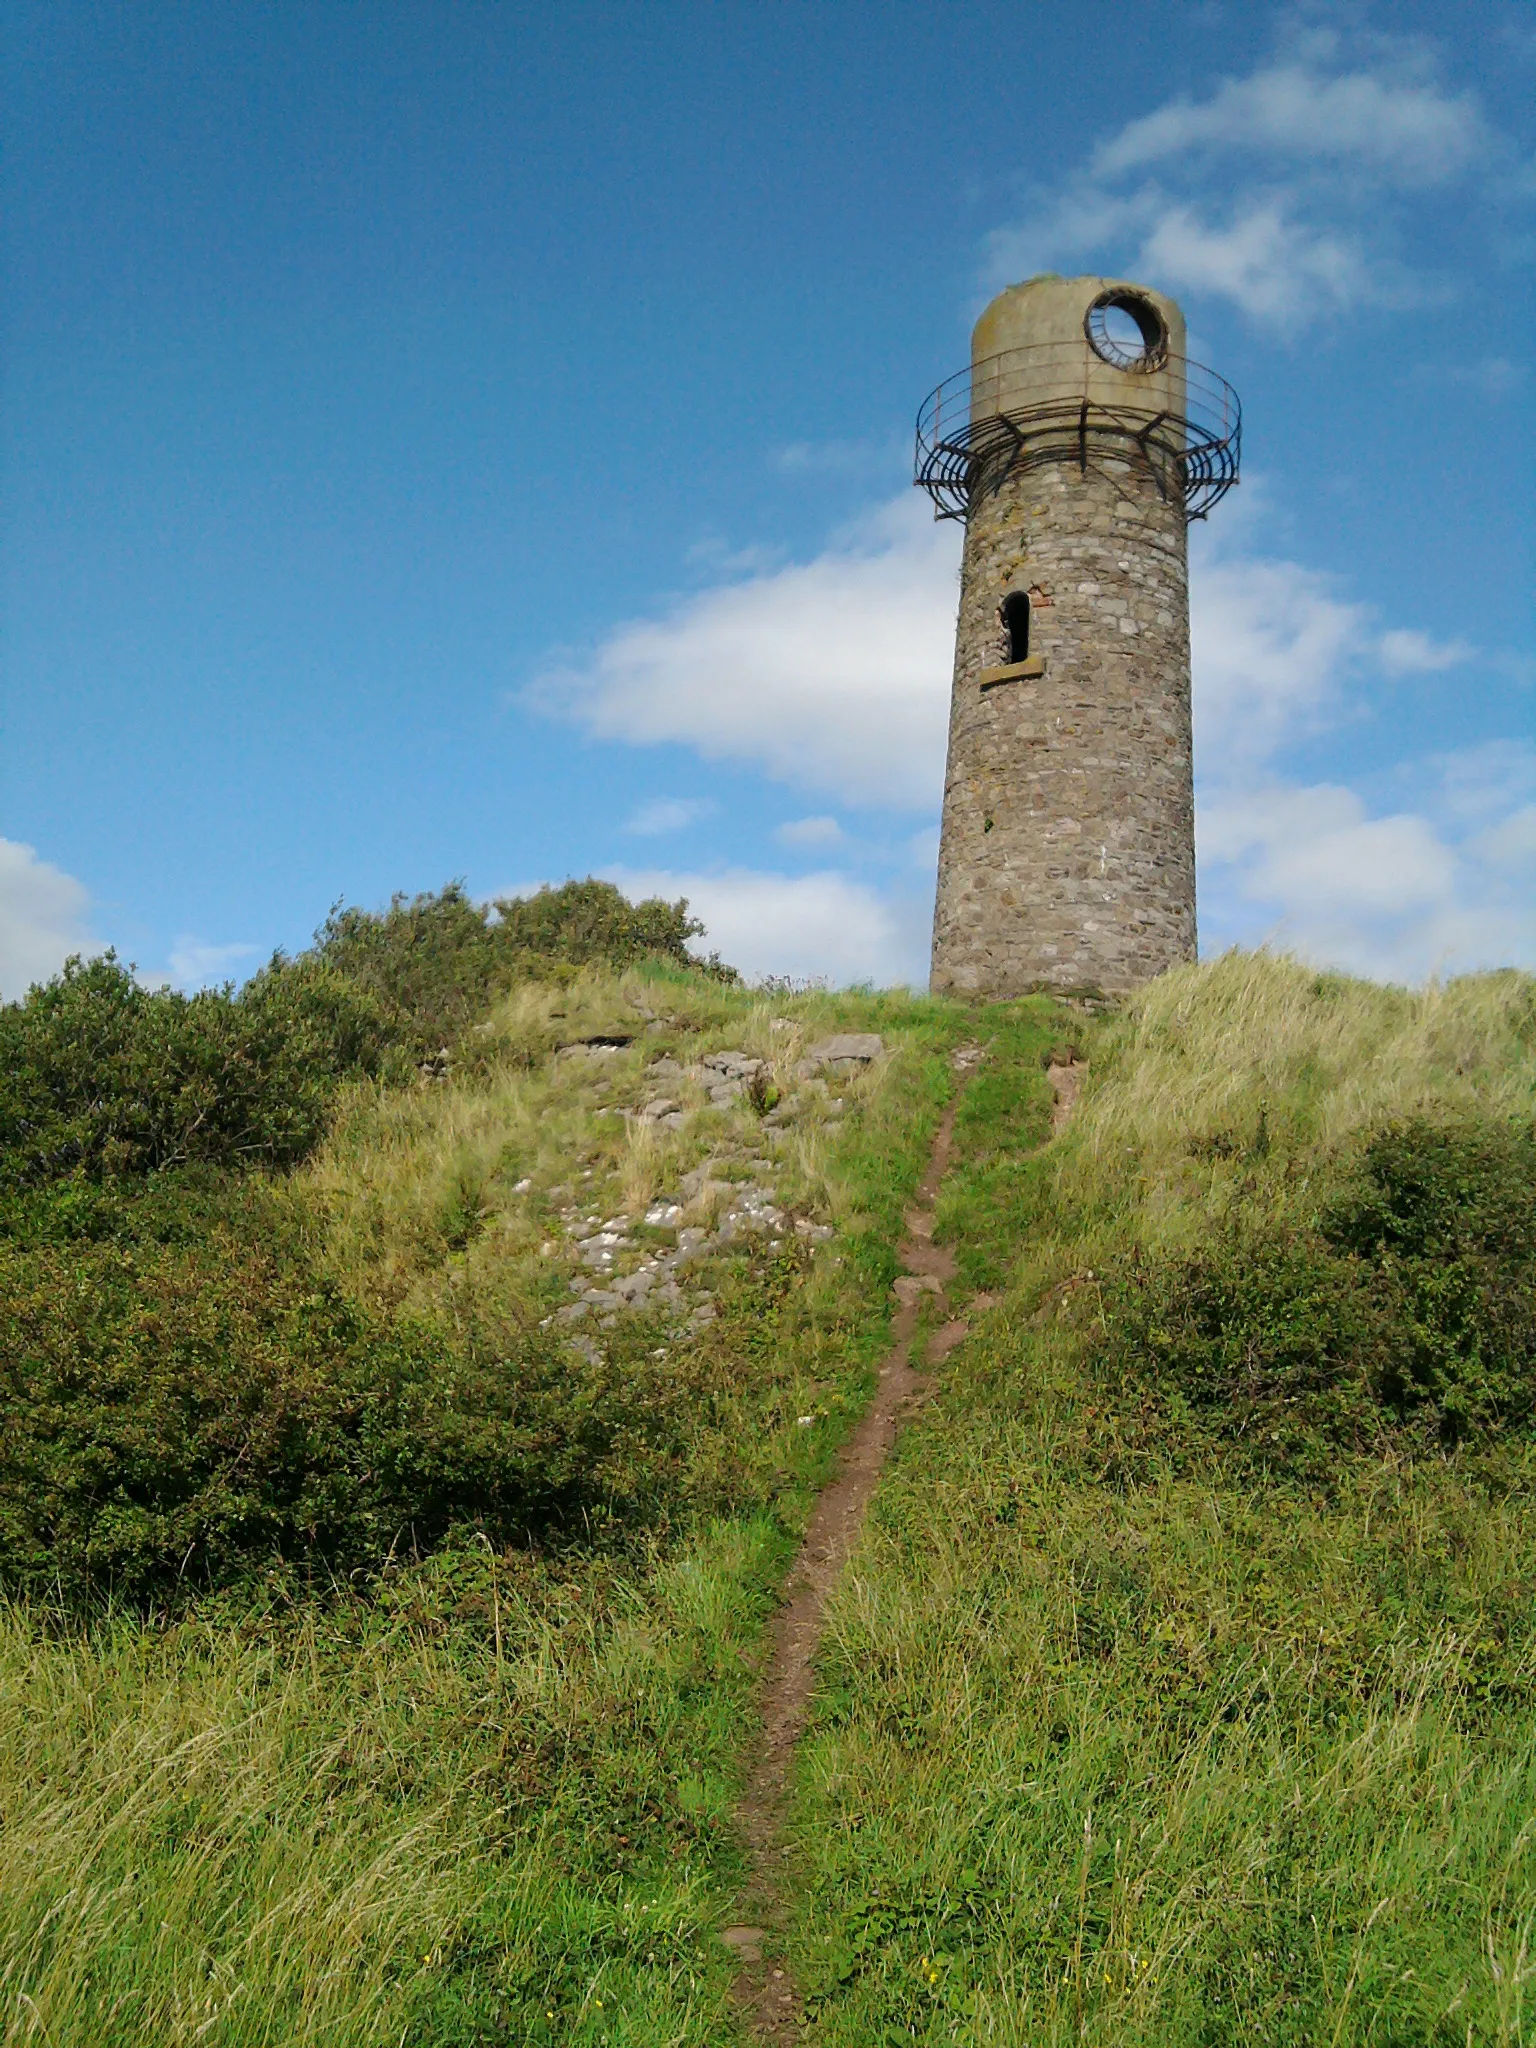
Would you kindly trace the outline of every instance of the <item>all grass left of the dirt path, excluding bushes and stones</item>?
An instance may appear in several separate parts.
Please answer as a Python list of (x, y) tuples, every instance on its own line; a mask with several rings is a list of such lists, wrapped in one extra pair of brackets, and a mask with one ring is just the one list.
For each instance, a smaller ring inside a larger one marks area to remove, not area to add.
[[(676, 1024), (600, 1075), (549, 1059), (635, 1001)], [(662, 1466), (635, 1446), (645, 1487), (618, 1520), (506, 1550), (463, 1528), (354, 1585), (289, 1556), (158, 1616), (0, 1614), (6, 2040), (735, 2038), (715, 1929), (741, 1876), (731, 1810), (764, 1622), (872, 1384), (903, 1208), (969, 1022), (907, 997), (770, 1008), (686, 973), (584, 973), (504, 1004), (463, 1079), (346, 1096), (328, 1147), (276, 1190), (307, 1255), (371, 1315), (471, 1348), (567, 1298), (539, 1251), (551, 1184), (610, 1214), (758, 1143), (737, 1108), (637, 1157), (598, 1112), (643, 1096), (645, 1053), (762, 1044), (788, 1069), (834, 1028), (891, 1047), (840, 1083), (836, 1133), (782, 1141), (780, 1188), (836, 1225), (813, 1262), (727, 1260), (719, 1319), (686, 1356), (655, 1362), (643, 1315), (602, 1333), (621, 1366), (684, 1389), (686, 1427)], [(621, 1483), (623, 1442), (608, 1458)]]

